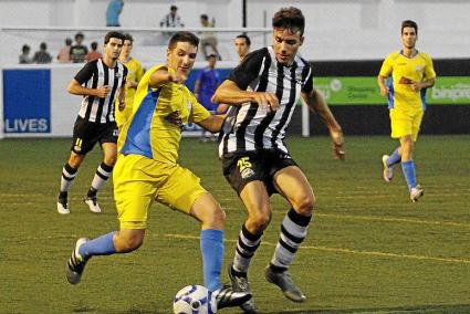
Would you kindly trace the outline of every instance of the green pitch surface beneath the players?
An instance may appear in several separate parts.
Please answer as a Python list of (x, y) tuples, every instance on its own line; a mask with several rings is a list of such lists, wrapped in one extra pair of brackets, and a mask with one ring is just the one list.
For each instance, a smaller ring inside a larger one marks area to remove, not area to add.
[[(332, 159), (326, 137), (288, 144), (317, 197), (307, 239), (292, 265), (306, 294), (291, 303), (267, 283), (280, 222), (289, 208), (272, 198), (273, 220), (250, 269), (262, 313), (470, 313), (470, 136), (421, 136), (416, 148), (418, 203), (396, 168), (382, 179), (388, 137), (348, 137), (347, 160)], [(82, 283), (65, 280), (79, 237), (116, 230), (108, 184), (102, 214), (82, 198), (100, 164), (95, 149), (70, 192), (70, 216), (55, 209), (69, 139), (0, 140), (0, 313), (171, 313), (175, 293), (201, 283), (198, 224), (155, 205), (144, 245), (134, 253), (90, 261)], [(221, 175), (216, 145), (184, 139), (181, 164), (202, 178), (227, 211), (226, 266), (246, 211)], [(221, 313), (239, 313), (224, 310)]]

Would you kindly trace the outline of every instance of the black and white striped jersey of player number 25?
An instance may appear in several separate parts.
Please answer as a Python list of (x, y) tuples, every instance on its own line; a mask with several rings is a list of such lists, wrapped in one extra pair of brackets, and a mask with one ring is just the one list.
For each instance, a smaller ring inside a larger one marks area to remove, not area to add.
[(301, 92), (310, 93), (313, 90), (310, 64), (296, 55), (291, 66), (282, 65), (278, 63), (272, 46), (269, 46), (248, 54), (228, 80), (241, 90), (274, 93), (280, 107), (274, 113), (268, 113), (255, 103), (230, 106), (219, 137), (219, 156), (262, 149), (288, 153), (285, 129), (295, 104)]

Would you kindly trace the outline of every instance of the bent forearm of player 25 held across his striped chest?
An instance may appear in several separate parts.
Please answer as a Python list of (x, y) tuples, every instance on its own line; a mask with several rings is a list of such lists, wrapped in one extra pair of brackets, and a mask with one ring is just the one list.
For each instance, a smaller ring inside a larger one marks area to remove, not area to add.
[(248, 102), (258, 103), (259, 106), (267, 108), (268, 112), (275, 112), (279, 108), (279, 100), (275, 94), (243, 91), (230, 80), (223, 81), (212, 96), (212, 103), (217, 104), (241, 105)]

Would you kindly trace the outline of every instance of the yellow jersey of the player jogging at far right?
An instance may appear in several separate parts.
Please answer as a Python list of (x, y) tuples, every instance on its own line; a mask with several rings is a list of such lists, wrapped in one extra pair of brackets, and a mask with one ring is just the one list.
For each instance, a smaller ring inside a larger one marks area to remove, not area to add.
[(407, 57), (403, 51), (390, 53), (385, 59), (380, 69), (380, 76), (391, 80), (387, 83), (389, 87), (388, 107), (400, 111), (426, 109), (426, 88), (415, 92), (412, 82), (429, 81), (436, 77), (431, 57), (417, 52), (414, 57)]

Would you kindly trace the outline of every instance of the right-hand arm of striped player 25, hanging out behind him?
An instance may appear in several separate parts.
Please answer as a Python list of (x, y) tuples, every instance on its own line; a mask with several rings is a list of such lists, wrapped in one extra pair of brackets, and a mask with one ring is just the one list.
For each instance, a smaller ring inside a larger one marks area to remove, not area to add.
[(326, 127), (328, 128), (330, 136), (333, 140), (334, 157), (336, 159), (344, 160), (345, 151), (343, 129), (341, 128), (340, 124), (336, 122), (335, 117), (330, 111), (330, 107), (326, 104), (326, 101), (323, 95), (318, 91), (313, 90), (310, 94), (302, 93), (302, 98), (312, 111), (320, 115), (320, 117), (323, 119)]

